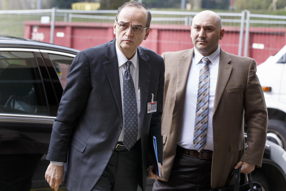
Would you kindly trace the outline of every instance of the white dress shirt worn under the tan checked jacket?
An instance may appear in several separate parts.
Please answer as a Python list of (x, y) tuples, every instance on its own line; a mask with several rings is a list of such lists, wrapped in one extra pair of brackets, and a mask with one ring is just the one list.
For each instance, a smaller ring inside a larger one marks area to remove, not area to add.
[(212, 114), (215, 100), (215, 88), (217, 84), (218, 65), (220, 60), (220, 46), (211, 55), (204, 57), (196, 48), (194, 48), (194, 55), (189, 71), (189, 77), (186, 86), (186, 98), (184, 104), (184, 113), (181, 134), (179, 136), (178, 145), (186, 149), (195, 150), (193, 145), (193, 135), (195, 128), (195, 115), (197, 106), (198, 83), (200, 69), (203, 67), (202, 58), (209, 58), (209, 113), (208, 113), (208, 127), (206, 133), (206, 146), (204, 150), (214, 150), (213, 132), (212, 132)]

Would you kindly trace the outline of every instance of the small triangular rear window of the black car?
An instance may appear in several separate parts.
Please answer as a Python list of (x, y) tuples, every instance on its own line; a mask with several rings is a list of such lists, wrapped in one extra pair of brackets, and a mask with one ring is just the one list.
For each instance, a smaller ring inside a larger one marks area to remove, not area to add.
[(74, 58), (57, 54), (49, 54), (49, 58), (53, 63), (57, 76), (59, 77), (60, 83), (64, 89), (66, 87), (66, 77), (69, 74), (69, 68)]

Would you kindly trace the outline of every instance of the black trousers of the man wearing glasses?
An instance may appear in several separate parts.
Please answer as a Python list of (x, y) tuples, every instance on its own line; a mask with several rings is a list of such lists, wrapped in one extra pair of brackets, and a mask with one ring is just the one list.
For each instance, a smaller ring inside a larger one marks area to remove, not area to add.
[(114, 150), (91, 191), (136, 191), (142, 182), (142, 149), (137, 141), (130, 151)]

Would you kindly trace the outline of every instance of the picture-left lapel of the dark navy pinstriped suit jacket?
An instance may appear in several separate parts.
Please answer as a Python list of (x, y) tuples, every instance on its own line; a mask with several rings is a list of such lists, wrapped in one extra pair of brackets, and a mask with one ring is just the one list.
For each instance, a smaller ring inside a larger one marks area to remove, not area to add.
[(108, 59), (108, 61), (103, 63), (103, 66), (105, 68), (105, 72), (120, 113), (121, 124), (123, 124), (119, 69), (115, 49), (115, 40), (108, 44), (105, 57)]

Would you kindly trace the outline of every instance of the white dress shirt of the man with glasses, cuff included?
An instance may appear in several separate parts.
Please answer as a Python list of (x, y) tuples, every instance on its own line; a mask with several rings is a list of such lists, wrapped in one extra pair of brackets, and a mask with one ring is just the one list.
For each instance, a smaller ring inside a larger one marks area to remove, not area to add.
[[(118, 60), (118, 69), (119, 69), (119, 81), (120, 81), (120, 90), (121, 90), (121, 102), (122, 102), (122, 114), (123, 114), (123, 124), (122, 124), (122, 130), (119, 136), (118, 141), (123, 141), (124, 138), (124, 106), (123, 106), (123, 76), (126, 70), (125, 62), (128, 61), (126, 56), (119, 50), (117, 43), (116, 44), (116, 55)], [(139, 90), (139, 57), (137, 55), (137, 51), (134, 54), (134, 56), (129, 60), (132, 62), (132, 65), (130, 66), (130, 72), (133, 79), (133, 83), (135, 86), (135, 93), (136, 93), (136, 102), (137, 102), (137, 115), (138, 115), (138, 135), (137, 140), (141, 138), (141, 126), (140, 124), (140, 100), (138, 100), (138, 90)], [(56, 162), (56, 161), (50, 161), (52, 164), (57, 166), (63, 166), (63, 162)]]

